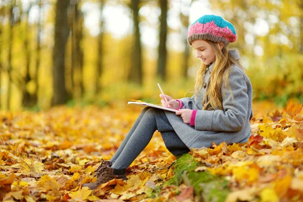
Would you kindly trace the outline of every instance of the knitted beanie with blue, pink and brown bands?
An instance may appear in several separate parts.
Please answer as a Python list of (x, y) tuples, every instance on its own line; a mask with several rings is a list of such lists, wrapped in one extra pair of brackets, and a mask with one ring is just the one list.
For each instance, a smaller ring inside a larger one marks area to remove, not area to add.
[(234, 26), (222, 17), (204, 15), (191, 24), (187, 42), (191, 45), (192, 41), (199, 39), (223, 42), (227, 46), (237, 40), (237, 33)]

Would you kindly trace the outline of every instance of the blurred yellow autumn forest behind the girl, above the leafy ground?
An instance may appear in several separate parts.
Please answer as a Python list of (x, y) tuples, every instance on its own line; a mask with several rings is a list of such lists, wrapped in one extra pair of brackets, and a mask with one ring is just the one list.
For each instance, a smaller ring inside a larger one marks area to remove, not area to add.
[(159, 104), (158, 82), (191, 96), (186, 36), (205, 14), (235, 26), (255, 102), (303, 103), (301, 0), (0, 0), (0, 107)]

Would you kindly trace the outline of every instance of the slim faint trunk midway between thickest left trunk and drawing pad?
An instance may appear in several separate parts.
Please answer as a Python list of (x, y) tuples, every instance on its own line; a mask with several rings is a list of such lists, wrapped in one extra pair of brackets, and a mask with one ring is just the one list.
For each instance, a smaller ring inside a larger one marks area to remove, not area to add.
[(103, 37), (104, 37), (104, 19), (103, 19), (103, 7), (104, 0), (100, 1), (100, 33), (98, 36), (98, 55), (97, 55), (97, 63), (96, 63), (96, 81), (95, 81), (95, 94), (99, 94), (101, 92), (101, 82), (100, 77), (103, 73)]

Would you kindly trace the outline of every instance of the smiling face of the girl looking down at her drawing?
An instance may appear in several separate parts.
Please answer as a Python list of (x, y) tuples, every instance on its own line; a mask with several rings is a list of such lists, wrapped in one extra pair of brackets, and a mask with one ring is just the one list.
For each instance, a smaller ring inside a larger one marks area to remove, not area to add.
[(216, 60), (214, 48), (205, 40), (195, 40), (191, 42), (196, 50), (196, 57), (200, 58), (205, 65), (209, 65)]

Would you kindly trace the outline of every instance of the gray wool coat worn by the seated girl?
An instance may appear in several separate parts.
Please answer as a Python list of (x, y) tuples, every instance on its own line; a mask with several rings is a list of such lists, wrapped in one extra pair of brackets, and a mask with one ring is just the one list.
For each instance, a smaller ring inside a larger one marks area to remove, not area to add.
[[(230, 54), (239, 60), (237, 49), (231, 49)], [(213, 63), (204, 75), (204, 82), (208, 83), (210, 70)], [(190, 126), (183, 122), (179, 115), (174, 112), (164, 111), (167, 119), (175, 130), (176, 134), (184, 144), (192, 148), (210, 147), (212, 142), (220, 144), (226, 142), (246, 142), (251, 135), (249, 120), (252, 118), (252, 86), (247, 75), (242, 69), (232, 64), (230, 67), (229, 86), (232, 90), (234, 100), (232, 100), (229, 88), (225, 88), (222, 82), (222, 106), (224, 110), (202, 110), (202, 100), (206, 94), (206, 88), (202, 87), (200, 95), (181, 98), (182, 109), (197, 110), (195, 126)]]

